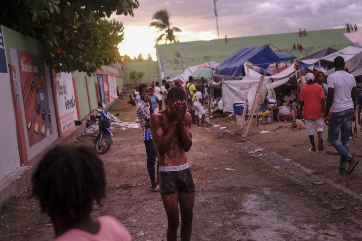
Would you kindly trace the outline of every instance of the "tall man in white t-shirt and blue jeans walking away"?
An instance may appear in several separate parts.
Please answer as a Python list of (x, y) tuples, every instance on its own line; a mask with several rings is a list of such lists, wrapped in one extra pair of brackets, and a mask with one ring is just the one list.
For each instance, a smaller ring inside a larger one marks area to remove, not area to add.
[[(352, 74), (344, 71), (343, 57), (337, 56), (334, 61), (335, 73), (328, 76), (328, 94), (325, 108), (325, 124), (329, 126), (328, 141), (341, 154), (339, 172), (351, 174), (359, 163), (349, 153), (349, 136), (352, 122), (355, 119), (356, 81)], [(332, 111), (328, 117), (329, 110)], [(341, 141), (338, 140), (341, 132)], [(346, 170), (347, 162), (349, 167)]]

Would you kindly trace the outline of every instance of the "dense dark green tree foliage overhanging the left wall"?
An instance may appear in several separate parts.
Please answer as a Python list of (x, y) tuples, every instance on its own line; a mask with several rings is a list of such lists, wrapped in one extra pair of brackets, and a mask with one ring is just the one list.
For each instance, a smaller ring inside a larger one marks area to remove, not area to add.
[(11, 0), (1, 6), (0, 23), (40, 40), (51, 69), (90, 75), (121, 61), (123, 24), (104, 17), (133, 16), (138, 6), (137, 0)]

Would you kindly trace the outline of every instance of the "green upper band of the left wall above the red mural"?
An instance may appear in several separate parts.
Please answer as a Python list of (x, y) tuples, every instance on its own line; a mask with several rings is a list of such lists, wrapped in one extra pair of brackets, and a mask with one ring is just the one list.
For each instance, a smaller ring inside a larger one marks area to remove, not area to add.
[(42, 55), (41, 45), (37, 39), (21, 34), (5, 26), (3, 26), (3, 35), (6, 36), (5, 45), (8, 64), (12, 64), (10, 58), (10, 48), (16, 48), (34, 55)]

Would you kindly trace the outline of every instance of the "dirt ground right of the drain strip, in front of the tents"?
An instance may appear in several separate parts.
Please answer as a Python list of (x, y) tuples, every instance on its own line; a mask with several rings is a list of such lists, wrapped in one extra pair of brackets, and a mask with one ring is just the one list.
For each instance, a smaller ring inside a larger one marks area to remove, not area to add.
[[(233, 132), (235, 135), (242, 134), (240, 126), (236, 124), (235, 117), (233, 118), (216, 118), (212, 120), (214, 124), (226, 126), (227, 130)], [(284, 158), (291, 159), (291, 162), (301, 164), (303, 167), (310, 169), (314, 175), (321, 178), (331, 180), (336, 184), (344, 185), (346, 188), (352, 190), (354, 193), (362, 196), (362, 186), (359, 180), (362, 178), (362, 165), (358, 165), (351, 175), (340, 175), (338, 167), (340, 163), (340, 156), (326, 154), (326, 151), (334, 151), (333, 146), (327, 143), (328, 126), (324, 124), (324, 146), (323, 151), (318, 153), (308, 152), (311, 148), (311, 143), (306, 130), (298, 130), (292, 128), (292, 123), (274, 122), (273, 124), (265, 124), (251, 126), (248, 136), (245, 138), (248, 141), (256, 143), (259, 147), (266, 147), (266, 149), (276, 152)], [(354, 128), (354, 123), (353, 123)], [(357, 152), (362, 154), (362, 132), (361, 126), (357, 124), (357, 138), (350, 141), (350, 152)], [(269, 130), (271, 133), (260, 134), (262, 130)], [(315, 133), (315, 142), (317, 143), (317, 135)], [(361, 159), (357, 157), (357, 159)]]

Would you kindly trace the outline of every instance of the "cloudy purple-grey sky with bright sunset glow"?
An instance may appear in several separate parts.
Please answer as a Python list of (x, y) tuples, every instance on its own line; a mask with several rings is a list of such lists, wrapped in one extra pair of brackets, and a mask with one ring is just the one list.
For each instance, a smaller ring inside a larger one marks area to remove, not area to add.
[[(166, 8), (171, 23), (182, 32), (180, 42), (217, 38), (213, 0), (139, 0), (134, 17), (113, 15), (125, 25), (125, 40), (119, 44), (121, 55), (131, 57), (151, 53), (158, 36), (149, 27), (152, 15)], [(218, 0), (220, 38), (287, 33), (345, 27), (357, 23), (362, 31), (361, 0)]]

